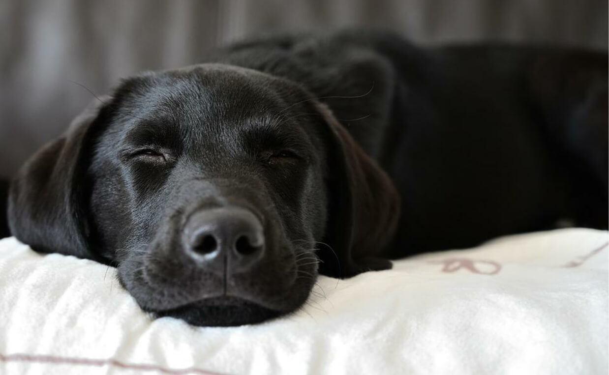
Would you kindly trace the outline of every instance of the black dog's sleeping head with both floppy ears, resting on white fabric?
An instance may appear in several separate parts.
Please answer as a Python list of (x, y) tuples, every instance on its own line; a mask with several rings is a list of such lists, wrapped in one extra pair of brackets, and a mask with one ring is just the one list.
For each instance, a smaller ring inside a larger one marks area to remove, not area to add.
[(318, 273), (390, 267), (398, 196), (327, 107), (227, 65), (125, 80), (12, 183), (12, 233), (116, 265), (157, 316), (198, 325), (291, 312)]

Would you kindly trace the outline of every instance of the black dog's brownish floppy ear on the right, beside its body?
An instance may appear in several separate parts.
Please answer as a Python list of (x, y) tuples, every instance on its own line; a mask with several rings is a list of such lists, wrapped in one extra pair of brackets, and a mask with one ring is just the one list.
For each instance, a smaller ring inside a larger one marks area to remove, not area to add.
[[(328, 224), (319, 249), (322, 275), (345, 278), (370, 270), (387, 270), (381, 252), (392, 239), (400, 216), (400, 196), (385, 173), (334, 117), (314, 106), (329, 128)], [(333, 254), (334, 253), (334, 254)]]

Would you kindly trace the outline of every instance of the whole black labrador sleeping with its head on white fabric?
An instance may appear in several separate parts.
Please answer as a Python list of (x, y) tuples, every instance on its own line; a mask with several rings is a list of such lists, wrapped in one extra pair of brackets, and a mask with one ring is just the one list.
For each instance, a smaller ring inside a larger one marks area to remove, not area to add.
[(144, 310), (230, 326), (318, 274), (554, 228), (607, 228), (605, 52), (248, 41), (124, 80), (13, 180), (12, 234), (118, 267)]

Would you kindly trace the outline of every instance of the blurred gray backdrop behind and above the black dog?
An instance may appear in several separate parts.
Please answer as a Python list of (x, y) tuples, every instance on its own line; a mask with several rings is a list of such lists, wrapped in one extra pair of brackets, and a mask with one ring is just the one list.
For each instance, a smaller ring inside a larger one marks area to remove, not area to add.
[[(381, 27), (415, 43), (607, 50), (607, 0), (0, 0), (0, 176), (93, 96), (259, 33)], [(77, 85), (79, 83), (80, 85)]]

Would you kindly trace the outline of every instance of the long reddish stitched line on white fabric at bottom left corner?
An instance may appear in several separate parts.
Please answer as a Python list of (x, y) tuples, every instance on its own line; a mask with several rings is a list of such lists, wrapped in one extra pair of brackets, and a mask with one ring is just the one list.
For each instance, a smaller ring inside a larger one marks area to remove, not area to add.
[(66, 364), (66, 365), (82, 365), (82, 366), (115, 366), (127, 368), (130, 370), (140, 371), (160, 371), (165, 374), (182, 375), (182, 374), (202, 374), (202, 375), (220, 375), (212, 371), (202, 370), (196, 367), (171, 369), (157, 365), (146, 365), (143, 363), (124, 363), (116, 359), (92, 359), (92, 358), (74, 358), (74, 357), (58, 357), (45, 356), (35, 354), (0, 354), (0, 362), (29, 362), (29, 363), (51, 363), (51, 364)]

